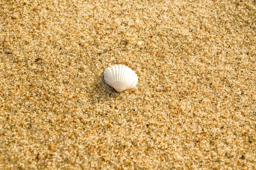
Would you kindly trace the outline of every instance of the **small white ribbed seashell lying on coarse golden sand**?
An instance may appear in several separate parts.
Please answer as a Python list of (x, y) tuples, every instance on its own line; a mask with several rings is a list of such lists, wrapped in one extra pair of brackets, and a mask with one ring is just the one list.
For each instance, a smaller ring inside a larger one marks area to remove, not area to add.
[(104, 80), (116, 91), (134, 88), (138, 82), (137, 74), (126, 65), (112, 65), (104, 71)]

